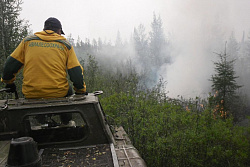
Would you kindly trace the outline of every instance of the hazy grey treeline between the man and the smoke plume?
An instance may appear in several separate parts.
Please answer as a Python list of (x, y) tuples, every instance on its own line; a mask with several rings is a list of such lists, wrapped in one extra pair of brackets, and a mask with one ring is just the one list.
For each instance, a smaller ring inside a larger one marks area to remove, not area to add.
[(159, 68), (171, 63), (170, 39), (164, 34), (161, 17), (155, 14), (153, 14), (150, 32), (147, 33), (145, 26), (140, 24), (134, 28), (129, 41), (123, 41), (119, 31), (114, 44), (101, 38), (92, 41), (78, 38), (75, 41), (69, 35), (67, 39), (74, 46), (80, 59), (86, 61), (88, 56), (92, 55), (101, 68), (126, 71), (124, 63), (130, 61), (135, 70), (144, 75), (141, 79), (145, 81), (146, 87), (155, 85), (160, 79), (157, 73)]

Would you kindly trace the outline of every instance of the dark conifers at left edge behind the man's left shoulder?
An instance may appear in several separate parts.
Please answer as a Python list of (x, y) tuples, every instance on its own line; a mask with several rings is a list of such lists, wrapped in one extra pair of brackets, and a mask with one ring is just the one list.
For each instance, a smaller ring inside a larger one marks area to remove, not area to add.
[[(28, 35), (27, 21), (20, 19), (22, 0), (0, 1), (0, 73), (6, 58), (15, 50), (21, 40)], [(21, 95), (22, 73), (17, 76), (16, 85)], [(4, 85), (1, 85), (3, 87)], [(5, 95), (3, 95), (5, 96)], [(2, 98), (3, 98), (2, 96)]]

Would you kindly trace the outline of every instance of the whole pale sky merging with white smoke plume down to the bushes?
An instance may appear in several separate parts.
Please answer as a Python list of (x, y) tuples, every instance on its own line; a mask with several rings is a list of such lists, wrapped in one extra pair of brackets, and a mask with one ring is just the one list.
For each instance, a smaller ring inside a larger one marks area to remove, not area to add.
[[(48, 17), (57, 17), (66, 37), (77, 40), (101, 37), (115, 41), (118, 30), (129, 40), (139, 24), (150, 31), (153, 13), (160, 15), (165, 34), (174, 37), (175, 62), (159, 67), (167, 89), (178, 95), (199, 95), (209, 90), (215, 54), (206, 47), (214, 43), (214, 28), (225, 38), (235, 31), (238, 40), (250, 32), (250, 0), (23, 0), (21, 18), (34, 32), (43, 29)], [(205, 39), (206, 38), (206, 39)], [(209, 39), (209, 40), (208, 40)], [(219, 48), (223, 46), (218, 46)], [(213, 46), (213, 51), (216, 47)], [(167, 71), (167, 72), (166, 72)], [(198, 92), (198, 94), (196, 94)]]

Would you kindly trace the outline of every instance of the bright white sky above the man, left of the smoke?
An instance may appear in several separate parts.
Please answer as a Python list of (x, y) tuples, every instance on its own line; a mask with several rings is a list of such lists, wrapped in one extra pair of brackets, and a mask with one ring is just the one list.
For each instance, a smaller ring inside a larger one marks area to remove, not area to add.
[(42, 30), (48, 17), (58, 18), (66, 36), (75, 38), (106, 38), (114, 40), (118, 30), (128, 39), (134, 26), (147, 26), (153, 12), (160, 14), (161, 4), (148, 0), (23, 0), (21, 17), (30, 21), (31, 28)]

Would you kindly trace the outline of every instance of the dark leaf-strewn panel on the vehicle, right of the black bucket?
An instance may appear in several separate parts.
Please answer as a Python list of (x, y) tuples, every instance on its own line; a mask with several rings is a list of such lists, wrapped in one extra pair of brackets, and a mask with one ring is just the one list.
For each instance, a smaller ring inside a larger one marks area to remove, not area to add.
[(44, 149), (42, 166), (112, 167), (113, 160), (109, 144), (68, 149)]

